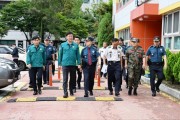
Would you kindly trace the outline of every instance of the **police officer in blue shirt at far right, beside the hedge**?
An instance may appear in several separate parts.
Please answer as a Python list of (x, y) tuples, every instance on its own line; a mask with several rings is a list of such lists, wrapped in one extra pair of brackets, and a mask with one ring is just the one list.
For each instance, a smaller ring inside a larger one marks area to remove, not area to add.
[[(166, 51), (164, 47), (160, 45), (160, 38), (158, 36), (154, 37), (154, 45), (150, 46), (146, 53), (146, 61), (149, 65), (151, 91), (154, 97), (156, 96), (156, 91), (160, 92), (159, 86), (164, 79), (163, 66), (165, 65), (165, 68), (167, 68)], [(155, 84), (156, 74), (158, 81)]]

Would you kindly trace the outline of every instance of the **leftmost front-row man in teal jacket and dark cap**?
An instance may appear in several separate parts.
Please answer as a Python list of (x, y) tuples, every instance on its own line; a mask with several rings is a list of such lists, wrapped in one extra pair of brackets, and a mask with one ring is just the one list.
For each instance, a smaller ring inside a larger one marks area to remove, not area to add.
[[(33, 95), (37, 95), (38, 93), (42, 93), (42, 73), (46, 64), (46, 55), (44, 47), (40, 45), (40, 37), (35, 36), (32, 38), (32, 40), (34, 44), (31, 45), (28, 49), (26, 63), (28, 68), (31, 69), (30, 79), (32, 79), (31, 81), (34, 90)], [(38, 86), (36, 84), (36, 77)]]

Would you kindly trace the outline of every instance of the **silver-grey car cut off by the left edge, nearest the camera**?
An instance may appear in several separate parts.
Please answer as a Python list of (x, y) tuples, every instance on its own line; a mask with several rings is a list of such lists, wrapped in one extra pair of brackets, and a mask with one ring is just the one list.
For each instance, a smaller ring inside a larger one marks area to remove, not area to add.
[(11, 85), (20, 78), (20, 69), (16, 63), (0, 57), (0, 88)]

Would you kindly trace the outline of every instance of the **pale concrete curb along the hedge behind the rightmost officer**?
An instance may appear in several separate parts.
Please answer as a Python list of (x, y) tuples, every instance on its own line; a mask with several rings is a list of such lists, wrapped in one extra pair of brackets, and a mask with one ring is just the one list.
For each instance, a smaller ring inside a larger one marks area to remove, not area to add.
[[(150, 78), (147, 78), (147, 77), (142, 76), (142, 77), (141, 77), (141, 80), (142, 80), (144, 83), (147, 83), (147, 84), (150, 85)], [(163, 92), (171, 95), (172, 97), (180, 100), (180, 91), (175, 90), (175, 89), (173, 89), (173, 88), (170, 88), (170, 87), (168, 87), (167, 85), (165, 85), (165, 84), (163, 84), (163, 83), (160, 85), (159, 89), (160, 89), (161, 91), (163, 91)]]

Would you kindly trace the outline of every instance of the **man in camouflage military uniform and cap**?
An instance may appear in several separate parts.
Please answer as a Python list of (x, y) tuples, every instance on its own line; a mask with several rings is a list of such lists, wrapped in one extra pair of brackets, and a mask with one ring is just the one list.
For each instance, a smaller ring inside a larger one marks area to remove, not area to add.
[(128, 68), (128, 95), (132, 94), (134, 88), (134, 95), (137, 95), (137, 87), (139, 76), (141, 75), (141, 68), (145, 68), (145, 53), (141, 46), (138, 45), (139, 39), (132, 38), (132, 46), (126, 51), (125, 67)]

